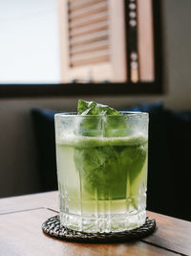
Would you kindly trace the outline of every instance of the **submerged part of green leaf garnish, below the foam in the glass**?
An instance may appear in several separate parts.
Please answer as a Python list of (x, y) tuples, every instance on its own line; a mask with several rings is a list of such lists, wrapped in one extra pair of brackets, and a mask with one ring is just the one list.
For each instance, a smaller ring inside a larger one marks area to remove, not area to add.
[(93, 198), (96, 195), (97, 199), (138, 196), (135, 188), (132, 195), (131, 186), (141, 171), (145, 158), (146, 148), (142, 146), (76, 148), (74, 151), (75, 166), (83, 190)]

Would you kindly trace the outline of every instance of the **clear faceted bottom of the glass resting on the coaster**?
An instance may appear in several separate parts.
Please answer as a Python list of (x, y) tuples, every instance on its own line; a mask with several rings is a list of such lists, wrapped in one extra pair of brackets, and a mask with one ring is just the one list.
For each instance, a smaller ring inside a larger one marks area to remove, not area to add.
[(85, 218), (74, 215), (60, 213), (60, 222), (65, 227), (76, 231), (88, 233), (109, 233), (131, 230), (144, 224), (146, 219), (145, 210), (141, 212), (133, 211), (128, 215), (105, 215), (86, 216)]

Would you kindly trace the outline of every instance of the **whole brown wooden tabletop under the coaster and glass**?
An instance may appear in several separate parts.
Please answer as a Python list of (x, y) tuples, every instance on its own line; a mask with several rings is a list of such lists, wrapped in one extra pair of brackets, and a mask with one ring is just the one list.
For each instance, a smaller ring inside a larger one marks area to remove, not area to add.
[(58, 211), (58, 193), (0, 199), (0, 256), (191, 255), (191, 222), (147, 212), (158, 229), (138, 242), (76, 244), (48, 237), (41, 224)]

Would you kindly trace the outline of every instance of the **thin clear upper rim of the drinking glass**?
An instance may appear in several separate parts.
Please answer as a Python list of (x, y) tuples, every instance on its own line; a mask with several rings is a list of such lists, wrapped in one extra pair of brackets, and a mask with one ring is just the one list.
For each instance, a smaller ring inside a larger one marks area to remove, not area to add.
[[(136, 116), (148, 116), (148, 112), (141, 112), (141, 111), (118, 111), (123, 116), (128, 117), (136, 117)], [(54, 114), (54, 117), (121, 117), (119, 115), (78, 115), (77, 112), (60, 112)]]

